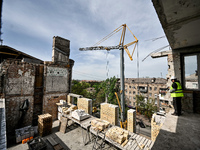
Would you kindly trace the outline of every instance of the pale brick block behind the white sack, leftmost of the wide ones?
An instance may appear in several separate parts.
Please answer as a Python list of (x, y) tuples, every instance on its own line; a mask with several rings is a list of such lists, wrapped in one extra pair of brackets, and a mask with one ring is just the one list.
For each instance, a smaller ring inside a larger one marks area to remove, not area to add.
[(87, 98), (78, 98), (78, 109), (84, 110), (87, 114), (92, 114), (92, 100)]

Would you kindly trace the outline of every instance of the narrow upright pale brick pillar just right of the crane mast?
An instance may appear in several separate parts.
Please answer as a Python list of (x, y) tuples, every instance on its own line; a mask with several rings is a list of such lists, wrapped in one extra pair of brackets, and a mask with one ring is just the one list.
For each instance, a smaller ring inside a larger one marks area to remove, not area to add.
[(129, 109), (127, 111), (127, 130), (136, 133), (136, 111)]

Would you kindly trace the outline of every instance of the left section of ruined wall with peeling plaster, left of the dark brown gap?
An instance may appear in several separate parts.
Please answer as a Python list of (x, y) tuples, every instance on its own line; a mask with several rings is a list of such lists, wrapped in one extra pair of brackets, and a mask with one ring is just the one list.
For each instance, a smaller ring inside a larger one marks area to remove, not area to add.
[[(18, 127), (32, 124), (35, 67), (18, 60), (7, 60), (2, 69), (5, 75), (6, 126), (8, 132), (12, 132)], [(22, 115), (19, 109), (26, 99), (29, 101), (29, 108), (19, 125), (18, 121)]]

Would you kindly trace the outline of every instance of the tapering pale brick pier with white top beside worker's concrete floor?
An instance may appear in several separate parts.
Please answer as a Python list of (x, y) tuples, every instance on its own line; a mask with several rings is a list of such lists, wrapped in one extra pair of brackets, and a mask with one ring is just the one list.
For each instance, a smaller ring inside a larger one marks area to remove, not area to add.
[(153, 114), (151, 119), (151, 140), (155, 142), (160, 129), (165, 122), (165, 116)]

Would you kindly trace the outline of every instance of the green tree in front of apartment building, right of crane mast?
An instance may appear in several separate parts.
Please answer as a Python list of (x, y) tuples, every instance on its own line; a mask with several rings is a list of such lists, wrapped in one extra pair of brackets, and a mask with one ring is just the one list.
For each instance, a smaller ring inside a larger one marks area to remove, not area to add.
[(136, 102), (137, 111), (148, 117), (148, 119), (150, 120), (153, 113), (157, 110), (157, 106), (154, 105), (155, 100), (150, 98), (145, 102), (142, 95), (136, 95)]

